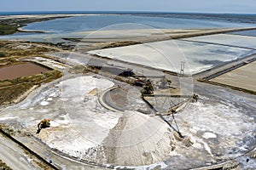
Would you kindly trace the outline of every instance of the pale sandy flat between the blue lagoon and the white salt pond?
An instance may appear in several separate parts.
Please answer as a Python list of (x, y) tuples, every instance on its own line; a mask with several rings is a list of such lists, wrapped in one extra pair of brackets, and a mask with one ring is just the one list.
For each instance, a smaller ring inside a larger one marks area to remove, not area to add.
[[(129, 29), (127, 24), (125, 30), (117, 27), (110, 27), (99, 31), (79, 31), (75, 32), (75, 35), (87, 35), (86, 38), (82, 39), (83, 42), (86, 40), (99, 41), (108, 39), (121, 39), (129, 37), (132, 40), (140, 40), (143, 42), (156, 42), (169, 39), (179, 39), (186, 37), (200, 37), (214, 34), (222, 34), (234, 31), (248, 31), (256, 30), (256, 27), (247, 28), (197, 28), (197, 29), (154, 29), (154, 28), (141, 28), (141, 29)], [(73, 38), (80, 39), (81, 38)]]

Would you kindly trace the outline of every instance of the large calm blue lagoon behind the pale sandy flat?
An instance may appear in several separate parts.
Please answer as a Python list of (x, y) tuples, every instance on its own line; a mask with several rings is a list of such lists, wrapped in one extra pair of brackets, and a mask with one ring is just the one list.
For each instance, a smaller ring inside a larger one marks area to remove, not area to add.
[(224, 28), (253, 26), (247, 23), (232, 23), (214, 20), (137, 16), (134, 14), (102, 14), (36, 22), (23, 27), (23, 29), (32, 31), (49, 31), (62, 33), (76, 31), (95, 31), (102, 29), (106, 26), (113, 26), (123, 23), (141, 24), (145, 26), (151, 26), (157, 29)]

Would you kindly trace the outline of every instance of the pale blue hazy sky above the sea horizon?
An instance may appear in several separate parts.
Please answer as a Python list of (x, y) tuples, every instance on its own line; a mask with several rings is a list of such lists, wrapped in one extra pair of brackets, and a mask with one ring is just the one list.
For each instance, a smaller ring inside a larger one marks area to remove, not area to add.
[(150, 11), (256, 14), (256, 0), (0, 0), (0, 12)]

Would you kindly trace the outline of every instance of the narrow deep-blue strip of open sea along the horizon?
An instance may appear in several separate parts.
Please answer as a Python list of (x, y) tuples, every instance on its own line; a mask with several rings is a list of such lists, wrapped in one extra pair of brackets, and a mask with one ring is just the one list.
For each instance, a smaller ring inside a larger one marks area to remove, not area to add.
[(136, 16), (183, 18), (198, 20), (218, 20), (223, 22), (240, 22), (255, 24), (256, 14), (232, 14), (232, 13), (195, 13), (195, 12), (150, 12), (150, 11), (20, 11), (0, 12), (0, 17), (9, 15), (53, 15), (53, 14), (131, 14)]

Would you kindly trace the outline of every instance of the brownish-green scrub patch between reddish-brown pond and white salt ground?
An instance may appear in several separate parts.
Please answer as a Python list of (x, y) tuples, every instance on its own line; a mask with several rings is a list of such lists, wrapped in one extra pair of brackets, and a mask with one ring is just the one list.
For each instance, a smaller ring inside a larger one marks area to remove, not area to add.
[(60, 77), (62, 77), (62, 72), (53, 70), (29, 77), (0, 81), (0, 105), (12, 103), (35, 85), (40, 86), (43, 82), (51, 82)]

